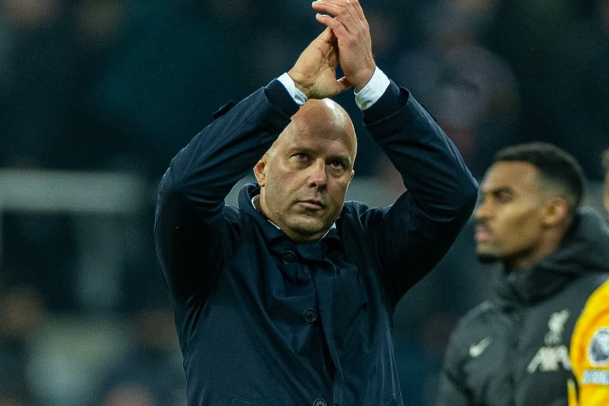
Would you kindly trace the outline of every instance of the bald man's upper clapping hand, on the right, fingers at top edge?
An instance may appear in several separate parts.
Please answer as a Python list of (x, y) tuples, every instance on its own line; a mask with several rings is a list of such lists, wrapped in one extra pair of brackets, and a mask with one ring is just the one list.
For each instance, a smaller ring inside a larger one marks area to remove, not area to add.
[[(360, 91), (375, 71), (370, 27), (357, 0), (318, 0), (315, 18), (332, 30), (338, 43), (340, 68), (348, 83)], [(332, 17), (334, 16), (334, 17)]]

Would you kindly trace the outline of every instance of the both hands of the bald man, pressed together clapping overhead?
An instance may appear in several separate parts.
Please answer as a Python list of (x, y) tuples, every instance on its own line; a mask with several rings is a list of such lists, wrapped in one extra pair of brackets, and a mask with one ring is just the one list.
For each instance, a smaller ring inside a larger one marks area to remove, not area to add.
[[(375, 71), (370, 27), (357, 0), (318, 0), (312, 8), (326, 29), (300, 54), (287, 74), (309, 99), (360, 91)], [(336, 78), (340, 63), (344, 77)]]

